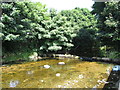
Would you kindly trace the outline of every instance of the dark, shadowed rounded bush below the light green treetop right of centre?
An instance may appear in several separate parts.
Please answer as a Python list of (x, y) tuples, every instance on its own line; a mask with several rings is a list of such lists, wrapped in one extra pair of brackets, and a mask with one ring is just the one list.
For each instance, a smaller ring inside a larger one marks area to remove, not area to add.
[(73, 44), (72, 54), (85, 57), (99, 55), (99, 43), (94, 30), (81, 29), (78, 36), (74, 38)]

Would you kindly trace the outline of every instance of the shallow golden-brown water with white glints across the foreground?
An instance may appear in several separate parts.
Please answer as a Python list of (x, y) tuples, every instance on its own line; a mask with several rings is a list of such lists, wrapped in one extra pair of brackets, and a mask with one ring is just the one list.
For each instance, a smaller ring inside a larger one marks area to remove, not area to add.
[[(58, 65), (65, 62), (64, 65)], [(50, 68), (44, 68), (50, 65)], [(0, 67), (3, 88), (103, 88), (111, 64), (78, 59), (44, 60)]]

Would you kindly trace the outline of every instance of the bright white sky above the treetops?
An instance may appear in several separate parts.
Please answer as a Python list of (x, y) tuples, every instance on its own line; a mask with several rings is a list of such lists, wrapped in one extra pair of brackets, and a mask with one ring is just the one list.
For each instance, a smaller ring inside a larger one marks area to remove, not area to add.
[(41, 2), (46, 4), (47, 8), (54, 8), (57, 11), (74, 9), (75, 7), (88, 8), (92, 10), (92, 0), (31, 0), (32, 2)]

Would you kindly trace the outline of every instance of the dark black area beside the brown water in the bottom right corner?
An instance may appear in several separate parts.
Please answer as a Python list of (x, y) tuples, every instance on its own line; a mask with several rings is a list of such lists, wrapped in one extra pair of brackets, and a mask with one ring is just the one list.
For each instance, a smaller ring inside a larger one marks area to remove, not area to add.
[(120, 70), (115, 71), (112, 69), (107, 82), (109, 83), (106, 83), (104, 85), (103, 90), (119, 90), (120, 89), (120, 84), (119, 84), (120, 83)]

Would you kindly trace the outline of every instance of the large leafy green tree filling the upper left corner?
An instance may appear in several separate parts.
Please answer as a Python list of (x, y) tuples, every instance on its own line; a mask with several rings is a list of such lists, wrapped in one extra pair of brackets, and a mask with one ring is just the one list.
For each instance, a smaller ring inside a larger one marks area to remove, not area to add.
[[(37, 46), (38, 33), (42, 27), (40, 23), (48, 19), (45, 5), (32, 2), (11, 2), (2, 3), (1, 8), (2, 33), (0, 36), (3, 38), (3, 47), (6, 50), (15, 50), (13, 48), (18, 43), (22, 46), (22, 42), (28, 43), (28, 47)], [(8, 46), (8, 44), (13, 45)]]

